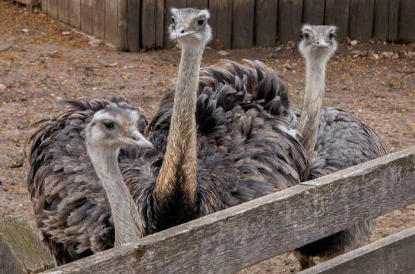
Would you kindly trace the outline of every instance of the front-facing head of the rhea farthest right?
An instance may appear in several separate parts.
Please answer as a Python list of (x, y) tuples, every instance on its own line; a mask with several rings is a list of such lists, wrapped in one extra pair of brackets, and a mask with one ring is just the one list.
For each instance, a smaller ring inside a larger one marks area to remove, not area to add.
[(329, 60), (338, 47), (335, 40), (336, 29), (335, 26), (303, 25), (298, 44), (299, 52), (306, 60)]

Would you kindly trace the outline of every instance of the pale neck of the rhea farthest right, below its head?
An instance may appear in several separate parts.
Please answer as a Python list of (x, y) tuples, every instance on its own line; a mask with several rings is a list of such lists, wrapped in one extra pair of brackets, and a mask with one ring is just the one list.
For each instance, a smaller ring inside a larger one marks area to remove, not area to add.
[(302, 144), (310, 157), (313, 156), (315, 143), (317, 142), (328, 59), (328, 57), (306, 57), (306, 93), (298, 131), (302, 135)]

